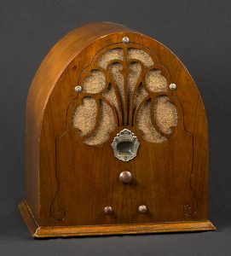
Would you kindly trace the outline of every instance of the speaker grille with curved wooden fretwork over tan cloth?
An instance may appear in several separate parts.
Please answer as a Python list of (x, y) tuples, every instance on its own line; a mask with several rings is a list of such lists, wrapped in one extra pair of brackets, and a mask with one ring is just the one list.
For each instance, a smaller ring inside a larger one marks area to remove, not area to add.
[(169, 101), (171, 80), (164, 75), (169, 72), (159, 64), (157, 55), (139, 47), (123, 45), (99, 52), (92, 68), (81, 74), (84, 100), (76, 108), (72, 123), (80, 137), (84, 136), (84, 143), (105, 143), (116, 125), (136, 125), (149, 143), (163, 143), (173, 132), (177, 109)]

